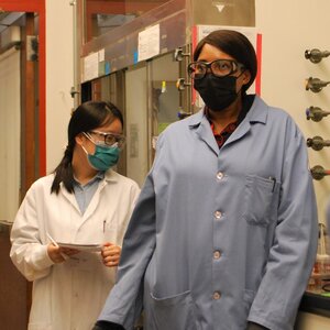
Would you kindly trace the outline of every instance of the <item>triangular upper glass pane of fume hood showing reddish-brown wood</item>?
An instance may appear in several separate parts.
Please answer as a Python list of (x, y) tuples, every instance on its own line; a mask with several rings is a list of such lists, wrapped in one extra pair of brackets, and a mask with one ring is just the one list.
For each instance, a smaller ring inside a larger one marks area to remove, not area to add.
[(131, 22), (169, 0), (85, 0), (86, 42)]

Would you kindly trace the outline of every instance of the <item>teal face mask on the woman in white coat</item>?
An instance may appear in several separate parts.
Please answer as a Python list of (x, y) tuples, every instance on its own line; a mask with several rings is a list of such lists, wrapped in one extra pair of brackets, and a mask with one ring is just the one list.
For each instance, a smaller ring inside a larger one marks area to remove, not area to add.
[(90, 166), (95, 169), (108, 170), (118, 163), (120, 154), (120, 148), (118, 146), (102, 146), (96, 144), (94, 155), (88, 154), (84, 146), (82, 148), (87, 154)]

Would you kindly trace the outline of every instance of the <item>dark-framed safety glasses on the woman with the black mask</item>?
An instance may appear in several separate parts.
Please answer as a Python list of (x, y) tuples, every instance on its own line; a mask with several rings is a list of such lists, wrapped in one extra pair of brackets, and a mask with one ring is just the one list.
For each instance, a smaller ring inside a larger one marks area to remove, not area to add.
[(243, 69), (244, 65), (233, 59), (216, 59), (212, 62), (193, 62), (188, 65), (188, 75), (197, 80), (202, 79), (210, 70), (216, 77), (226, 77)]

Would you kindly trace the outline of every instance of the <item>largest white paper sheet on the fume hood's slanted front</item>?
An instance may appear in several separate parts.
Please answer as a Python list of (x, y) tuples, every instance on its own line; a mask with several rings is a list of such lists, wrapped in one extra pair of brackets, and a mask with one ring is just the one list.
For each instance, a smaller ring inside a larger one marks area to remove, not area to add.
[(139, 33), (138, 61), (144, 61), (160, 54), (160, 24)]

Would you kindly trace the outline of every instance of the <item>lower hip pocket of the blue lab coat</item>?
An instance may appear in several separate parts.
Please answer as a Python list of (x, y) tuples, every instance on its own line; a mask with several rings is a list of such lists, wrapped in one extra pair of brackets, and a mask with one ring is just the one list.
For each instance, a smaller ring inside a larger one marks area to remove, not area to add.
[(155, 330), (198, 330), (196, 306), (190, 292), (156, 298), (151, 294), (151, 315), (153, 316)]

